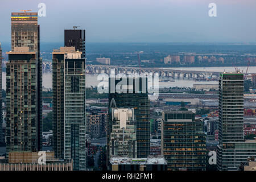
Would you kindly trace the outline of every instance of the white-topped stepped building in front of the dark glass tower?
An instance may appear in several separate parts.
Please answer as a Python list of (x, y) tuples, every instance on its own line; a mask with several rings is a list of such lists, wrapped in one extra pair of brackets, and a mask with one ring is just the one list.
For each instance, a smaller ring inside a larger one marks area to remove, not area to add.
[(109, 155), (137, 158), (136, 121), (133, 109), (112, 108)]

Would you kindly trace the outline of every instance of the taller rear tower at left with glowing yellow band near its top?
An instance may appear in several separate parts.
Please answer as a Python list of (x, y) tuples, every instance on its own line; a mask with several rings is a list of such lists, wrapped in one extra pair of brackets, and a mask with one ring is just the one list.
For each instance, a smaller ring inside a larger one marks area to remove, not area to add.
[[(38, 13), (11, 13), (11, 51), (15, 47), (28, 47), (36, 52), (36, 130), (38, 150), (42, 148), (42, 59), (40, 58), (40, 26)], [(18, 60), (18, 57), (15, 58)], [(22, 58), (23, 59), (23, 58)], [(10, 60), (10, 59), (9, 59)], [(15, 93), (16, 94), (16, 93)], [(8, 129), (7, 129), (8, 130)]]

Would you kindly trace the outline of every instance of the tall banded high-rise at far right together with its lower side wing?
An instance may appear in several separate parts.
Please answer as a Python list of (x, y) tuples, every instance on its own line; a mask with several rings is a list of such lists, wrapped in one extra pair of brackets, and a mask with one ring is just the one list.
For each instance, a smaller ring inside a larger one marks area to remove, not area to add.
[(238, 170), (242, 162), (256, 155), (256, 143), (244, 139), (243, 73), (221, 73), (218, 98), (217, 168)]

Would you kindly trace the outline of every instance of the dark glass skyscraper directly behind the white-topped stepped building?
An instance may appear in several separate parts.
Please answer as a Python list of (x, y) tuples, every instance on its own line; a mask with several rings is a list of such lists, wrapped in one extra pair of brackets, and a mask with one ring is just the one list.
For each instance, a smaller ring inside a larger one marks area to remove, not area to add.
[[(124, 79), (124, 78), (123, 78)], [(136, 119), (137, 158), (147, 158), (150, 155), (150, 101), (147, 93), (147, 78), (133, 77), (126, 78), (126, 93), (118, 93), (113, 89), (118, 84), (115, 78), (109, 78), (109, 120), (108, 120), (108, 161), (109, 142), (112, 133), (113, 121), (111, 119), (112, 108), (133, 108)], [(136, 87), (138, 86), (138, 90)], [(145, 90), (145, 92), (142, 92)], [(138, 92), (137, 92), (138, 91)]]

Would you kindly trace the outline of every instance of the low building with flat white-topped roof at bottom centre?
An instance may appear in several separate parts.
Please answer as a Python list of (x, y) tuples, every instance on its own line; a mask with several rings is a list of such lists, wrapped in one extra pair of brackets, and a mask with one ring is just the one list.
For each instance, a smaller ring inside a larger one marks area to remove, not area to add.
[(111, 171), (166, 171), (167, 162), (163, 156), (147, 158), (113, 157), (110, 159)]

